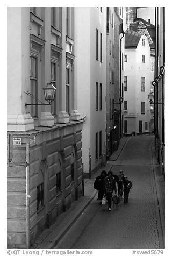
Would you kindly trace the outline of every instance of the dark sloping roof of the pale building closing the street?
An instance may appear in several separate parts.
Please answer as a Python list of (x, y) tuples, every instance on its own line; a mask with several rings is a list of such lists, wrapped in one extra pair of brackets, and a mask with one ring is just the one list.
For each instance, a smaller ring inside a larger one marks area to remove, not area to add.
[(126, 30), (125, 32), (125, 48), (137, 48), (141, 34), (133, 30)]

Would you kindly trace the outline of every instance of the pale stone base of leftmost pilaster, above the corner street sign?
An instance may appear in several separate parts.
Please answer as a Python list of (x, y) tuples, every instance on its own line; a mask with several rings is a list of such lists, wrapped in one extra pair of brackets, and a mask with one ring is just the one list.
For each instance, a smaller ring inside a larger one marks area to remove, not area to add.
[(34, 120), (30, 114), (7, 116), (8, 131), (29, 131), (34, 129)]

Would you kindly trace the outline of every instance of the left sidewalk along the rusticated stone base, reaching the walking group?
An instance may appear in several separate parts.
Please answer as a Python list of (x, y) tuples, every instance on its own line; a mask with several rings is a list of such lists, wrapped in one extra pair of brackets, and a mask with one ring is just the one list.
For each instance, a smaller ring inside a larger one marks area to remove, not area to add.
[(106, 166), (98, 169), (97, 172), (92, 175), (91, 179), (84, 179), (84, 196), (73, 202), (68, 211), (59, 215), (56, 222), (49, 227), (49, 229), (45, 229), (40, 234), (35, 243), (31, 246), (31, 249), (51, 249), (58, 243), (64, 233), (70, 229), (70, 226), (73, 225), (78, 216), (82, 214), (97, 194), (97, 190), (93, 188), (95, 177), (101, 174), (102, 170), (106, 170), (106, 172), (108, 172), (112, 166), (113, 165), (110, 163), (106, 163)]

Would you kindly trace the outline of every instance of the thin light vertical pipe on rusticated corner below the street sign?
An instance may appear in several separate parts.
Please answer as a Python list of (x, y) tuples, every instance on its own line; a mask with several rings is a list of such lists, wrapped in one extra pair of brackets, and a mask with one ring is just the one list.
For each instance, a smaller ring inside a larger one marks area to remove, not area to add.
[(30, 165), (29, 143), (26, 143), (26, 246), (30, 248)]

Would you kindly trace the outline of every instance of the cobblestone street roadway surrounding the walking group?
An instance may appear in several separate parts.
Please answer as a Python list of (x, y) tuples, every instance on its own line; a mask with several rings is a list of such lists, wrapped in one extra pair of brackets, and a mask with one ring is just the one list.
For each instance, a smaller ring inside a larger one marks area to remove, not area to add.
[(128, 204), (107, 211), (97, 196), (56, 248), (163, 248), (152, 169), (151, 136), (131, 137), (114, 161), (113, 173), (123, 170), (133, 183)]

